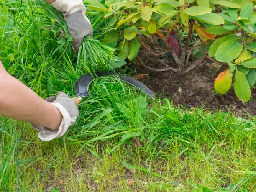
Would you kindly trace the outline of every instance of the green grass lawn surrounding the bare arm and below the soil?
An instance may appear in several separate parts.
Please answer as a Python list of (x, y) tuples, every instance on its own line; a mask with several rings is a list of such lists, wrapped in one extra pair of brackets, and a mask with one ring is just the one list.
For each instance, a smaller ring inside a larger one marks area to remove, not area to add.
[[(38, 9), (0, 0), (0, 58), (41, 97), (74, 96), (85, 63)], [(255, 117), (154, 102), (115, 77), (95, 80), (90, 93), (76, 125), (54, 141), (0, 116), (0, 191), (255, 191)]]

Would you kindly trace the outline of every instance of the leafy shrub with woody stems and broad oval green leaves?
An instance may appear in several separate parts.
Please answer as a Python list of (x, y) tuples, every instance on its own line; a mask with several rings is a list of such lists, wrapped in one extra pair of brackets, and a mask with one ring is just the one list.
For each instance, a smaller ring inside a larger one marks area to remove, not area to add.
[[(186, 74), (206, 63), (230, 68), (215, 80), (215, 90), (226, 93), (234, 79), (236, 95), (251, 97), (256, 82), (256, 13), (251, 0), (89, 0), (88, 14), (100, 12), (105, 28), (99, 36), (117, 47), (123, 59), (137, 59), (140, 45), (151, 54), (169, 53), (175, 66), (164, 69)], [(107, 24), (106, 24), (107, 23)], [(167, 30), (166, 30), (167, 29)], [(151, 36), (161, 43), (149, 49), (141, 40)], [(118, 43), (119, 42), (119, 43)], [(196, 58), (197, 60), (193, 59)]]

